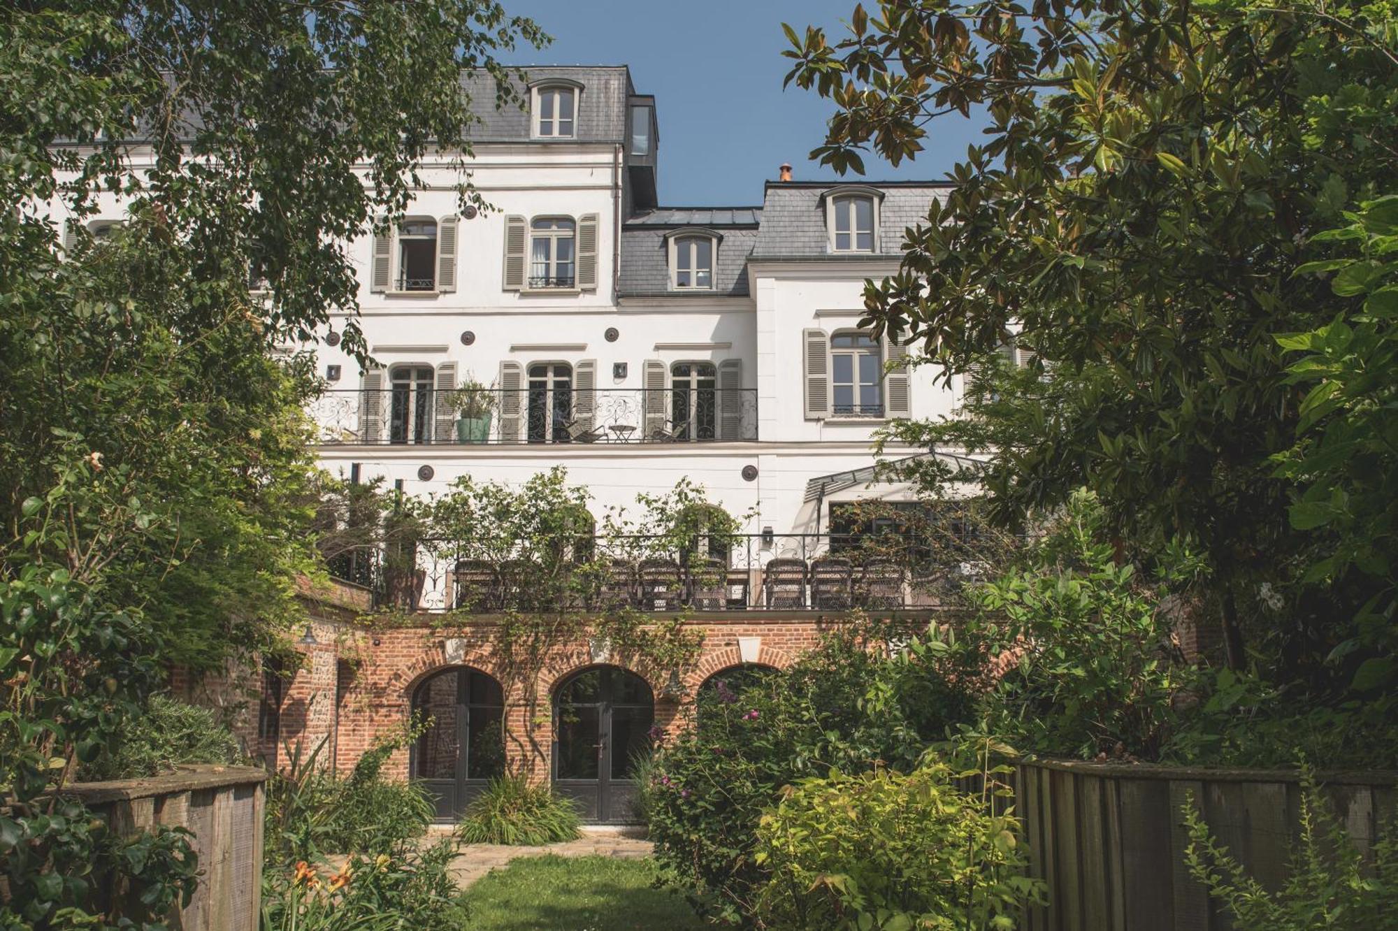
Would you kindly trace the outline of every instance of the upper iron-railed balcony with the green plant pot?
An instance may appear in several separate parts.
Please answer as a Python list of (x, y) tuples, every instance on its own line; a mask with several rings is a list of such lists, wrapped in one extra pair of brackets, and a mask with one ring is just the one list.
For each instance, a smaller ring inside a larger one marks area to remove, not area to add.
[(330, 390), (310, 404), (322, 445), (721, 443), (758, 439), (756, 389)]

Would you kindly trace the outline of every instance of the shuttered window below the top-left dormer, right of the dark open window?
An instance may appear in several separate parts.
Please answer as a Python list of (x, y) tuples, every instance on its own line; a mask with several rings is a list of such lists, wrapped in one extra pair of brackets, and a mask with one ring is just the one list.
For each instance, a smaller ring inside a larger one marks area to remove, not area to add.
[(505, 291), (596, 288), (597, 214), (505, 218)]

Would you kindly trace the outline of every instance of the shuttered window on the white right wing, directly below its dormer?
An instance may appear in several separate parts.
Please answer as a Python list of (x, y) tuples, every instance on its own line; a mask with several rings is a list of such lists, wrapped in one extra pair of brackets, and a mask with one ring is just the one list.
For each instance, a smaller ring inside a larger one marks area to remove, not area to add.
[(861, 330), (801, 334), (805, 419), (909, 417), (907, 349)]

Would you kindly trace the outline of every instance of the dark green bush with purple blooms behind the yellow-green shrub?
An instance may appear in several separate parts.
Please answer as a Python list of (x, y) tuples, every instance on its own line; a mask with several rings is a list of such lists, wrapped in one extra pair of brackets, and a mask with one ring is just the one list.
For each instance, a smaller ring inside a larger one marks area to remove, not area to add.
[[(896, 661), (888, 643), (911, 646)], [(703, 914), (751, 920), (766, 869), (758, 821), (783, 786), (879, 762), (911, 769), (967, 720), (980, 657), (871, 622), (829, 635), (791, 668), (737, 693), (700, 695), (695, 726), (657, 749), (642, 788), (656, 860)]]

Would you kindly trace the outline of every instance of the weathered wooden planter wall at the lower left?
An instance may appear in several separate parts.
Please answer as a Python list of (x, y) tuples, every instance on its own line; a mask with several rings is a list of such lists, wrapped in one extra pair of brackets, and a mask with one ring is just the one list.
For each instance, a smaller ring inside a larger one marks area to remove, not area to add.
[(74, 783), (82, 801), (122, 836), (155, 825), (187, 828), (199, 854), (199, 890), (171, 927), (257, 931), (261, 911), (263, 781), (250, 766), (182, 766), (168, 776)]

